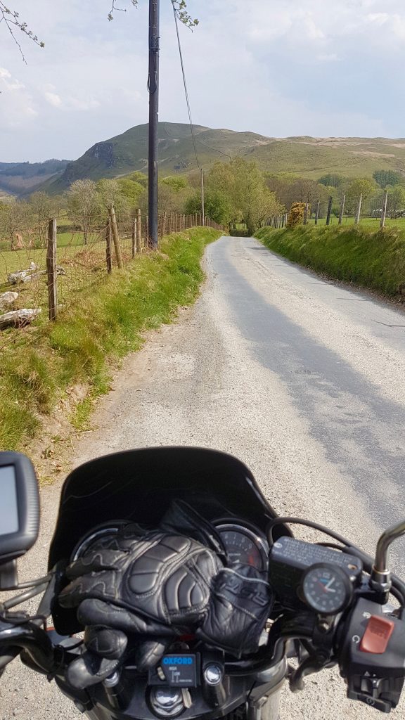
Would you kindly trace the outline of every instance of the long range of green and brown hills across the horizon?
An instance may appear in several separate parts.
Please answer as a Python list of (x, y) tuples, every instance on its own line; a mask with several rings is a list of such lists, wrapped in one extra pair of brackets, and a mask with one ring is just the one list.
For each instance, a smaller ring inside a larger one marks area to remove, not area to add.
[[(257, 160), (263, 171), (311, 179), (326, 173), (371, 177), (375, 170), (383, 169), (399, 171), (405, 177), (405, 138), (267, 138), (255, 132), (203, 125), (195, 125), (194, 132), (205, 169), (215, 161), (244, 156)], [(187, 174), (196, 167), (190, 126), (159, 122), (160, 175)], [(96, 143), (73, 162), (0, 163), (0, 189), (26, 194), (40, 188), (56, 194), (77, 179), (112, 178), (135, 170), (148, 171), (148, 125), (136, 125), (122, 135)]]

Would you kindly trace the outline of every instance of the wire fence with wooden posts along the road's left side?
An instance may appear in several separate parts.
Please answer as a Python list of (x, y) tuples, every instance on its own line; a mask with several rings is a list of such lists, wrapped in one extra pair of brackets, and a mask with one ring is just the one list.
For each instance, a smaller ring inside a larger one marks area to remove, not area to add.
[[(164, 213), (159, 239), (203, 225), (201, 215)], [(205, 218), (204, 225), (221, 230)], [(148, 217), (120, 220), (114, 210), (104, 225), (90, 218), (79, 230), (56, 219), (36, 227), (13, 228), (0, 238), (0, 350), (9, 342), (30, 338), (32, 330), (55, 320), (58, 312), (81, 301), (86, 289), (108, 274), (148, 253)], [(31, 325), (35, 320), (34, 325)]]

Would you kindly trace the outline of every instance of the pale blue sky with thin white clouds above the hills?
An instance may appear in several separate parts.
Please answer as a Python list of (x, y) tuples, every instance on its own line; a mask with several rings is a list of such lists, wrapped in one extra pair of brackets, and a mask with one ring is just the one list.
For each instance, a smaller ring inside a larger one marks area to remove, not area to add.
[[(0, 24), (0, 162), (79, 157), (148, 120), (148, 0), (9, 0), (41, 40)], [(404, 0), (190, 0), (181, 27), (193, 120), (288, 135), (405, 136)], [(187, 122), (169, 0), (160, 119)]]

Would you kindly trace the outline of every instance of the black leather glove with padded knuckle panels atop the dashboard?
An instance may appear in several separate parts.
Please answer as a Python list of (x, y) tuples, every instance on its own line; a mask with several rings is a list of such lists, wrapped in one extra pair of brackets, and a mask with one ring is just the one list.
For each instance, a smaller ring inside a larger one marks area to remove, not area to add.
[(116, 549), (89, 548), (66, 570), (59, 595), (79, 607), (84, 625), (162, 636), (190, 631), (205, 618), (213, 578), (222, 564), (215, 552), (181, 535), (115, 537)]

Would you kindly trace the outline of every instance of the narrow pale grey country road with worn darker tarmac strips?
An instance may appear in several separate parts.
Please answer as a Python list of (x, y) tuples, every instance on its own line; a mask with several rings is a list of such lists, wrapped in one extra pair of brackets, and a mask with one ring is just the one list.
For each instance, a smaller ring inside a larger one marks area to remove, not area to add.
[[(280, 514), (326, 524), (373, 552), (405, 512), (405, 314), (322, 282), (251, 238), (208, 247), (196, 305), (153, 333), (115, 378), (74, 464), (132, 447), (229, 451)], [(26, 572), (41, 572), (60, 487), (43, 490), (44, 528)], [(300, 535), (311, 537), (306, 532)], [(405, 577), (405, 544), (393, 564)], [(282, 720), (375, 719), (345, 699), (337, 672), (285, 690)], [(405, 702), (393, 713), (404, 717)], [(78, 718), (14, 663), (0, 719)]]

